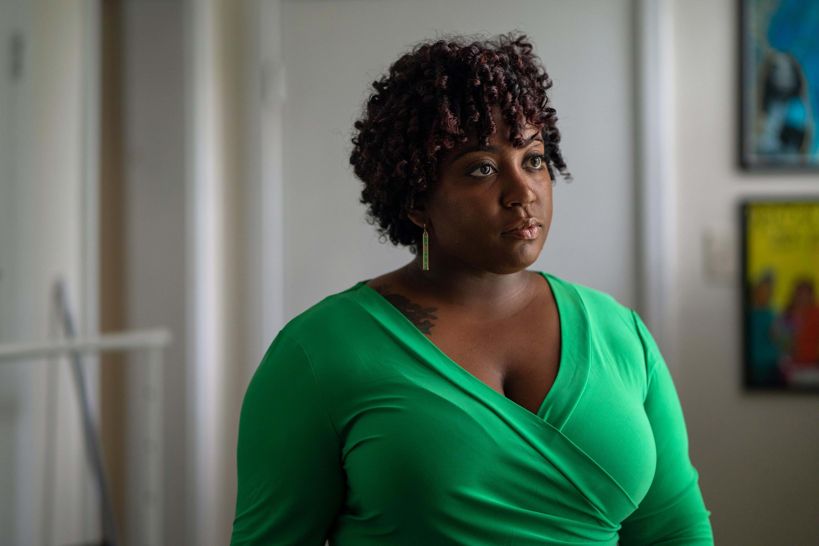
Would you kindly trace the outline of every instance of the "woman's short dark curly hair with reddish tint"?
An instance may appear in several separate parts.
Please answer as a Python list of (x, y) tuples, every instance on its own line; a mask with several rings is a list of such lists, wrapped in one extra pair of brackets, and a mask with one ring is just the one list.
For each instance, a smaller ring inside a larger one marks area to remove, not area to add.
[(523, 126), (541, 131), (546, 165), (567, 180), (557, 118), (546, 91), (552, 80), (532, 53), (526, 34), (495, 38), (450, 36), (414, 45), (373, 82), (374, 93), (353, 125), (350, 163), (364, 183), (360, 202), (381, 240), (417, 253), (420, 230), (407, 212), (434, 187), (446, 151), (477, 132), (494, 134), (491, 106), (509, 124), (509, 140), (523, 147)]

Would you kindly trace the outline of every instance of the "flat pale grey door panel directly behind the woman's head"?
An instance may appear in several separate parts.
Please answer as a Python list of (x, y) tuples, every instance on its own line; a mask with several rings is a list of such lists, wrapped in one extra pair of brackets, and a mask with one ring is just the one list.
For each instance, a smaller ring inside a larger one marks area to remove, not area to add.
[(287, 319), (412, 258), (364, 221), (350, 136), (369, 83), (436, 30), (529, 35), (555, 82), (574, 175), (554, 187), (549, 239), (532, 268), (636, 305), (632, 2), (287, 1), (282, 29)]

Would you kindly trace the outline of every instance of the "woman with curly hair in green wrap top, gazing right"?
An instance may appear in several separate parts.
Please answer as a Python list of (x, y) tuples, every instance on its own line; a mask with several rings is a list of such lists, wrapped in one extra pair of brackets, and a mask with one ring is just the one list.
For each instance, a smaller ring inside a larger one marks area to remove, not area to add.
[(232, 544), (713, 544), (644, 323), (527, 270), (567, 175), (550, 86), (513, 35), (419, 44), (373, 83), (351, 164), (416, 257), (270, 345)]

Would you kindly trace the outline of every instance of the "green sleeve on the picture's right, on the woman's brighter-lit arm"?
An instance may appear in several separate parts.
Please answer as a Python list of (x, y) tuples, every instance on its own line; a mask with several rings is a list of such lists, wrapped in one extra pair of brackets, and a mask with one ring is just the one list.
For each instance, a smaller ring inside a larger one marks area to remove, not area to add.
[(657, 446), (654, 481), (640, 506), (622, 521), (621, 546), (713, 546), (713, 532), (688, 454), (688, 433), (676, 389), (654, 338), (632, 311), (645, 350), (645, 413)]

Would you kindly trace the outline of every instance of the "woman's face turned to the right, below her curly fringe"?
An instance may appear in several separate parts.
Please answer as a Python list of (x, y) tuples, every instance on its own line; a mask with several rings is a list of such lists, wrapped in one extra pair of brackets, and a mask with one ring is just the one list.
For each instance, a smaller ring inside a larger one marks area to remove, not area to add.
[[(478, 147), (473, 135), (450, 150), (425, 210), (410, 214), (419, 226), (427, 222), (430, 268), (460, 262), (496, 274), (517, 273), (541, 254), (552, 220), (552, 183), (541, 133), (525, 127), (526, 146), (514, 148), (498, 106), (492, 107), (492, 116), (497, 131), (489, 146)], [(510, 234), (523, 219), (534, 219), (536, 227)]]

